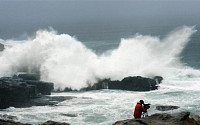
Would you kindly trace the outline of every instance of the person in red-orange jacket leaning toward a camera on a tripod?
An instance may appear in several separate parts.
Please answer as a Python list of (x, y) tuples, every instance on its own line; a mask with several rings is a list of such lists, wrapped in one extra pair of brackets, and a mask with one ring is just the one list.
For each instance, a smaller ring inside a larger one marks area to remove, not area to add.
[(137, 104), (135, 106), (135, 111), (134, 111), (134, 114), (133, 114), (135, 119), (141, 118), (142, 112), (146, 112), (147, 111), (147, 109), (145, 109), (143, 107), (143, 105), (144, 105), (144, 101), (143, 100), (140, 100), (139, 102), (137, 102)]

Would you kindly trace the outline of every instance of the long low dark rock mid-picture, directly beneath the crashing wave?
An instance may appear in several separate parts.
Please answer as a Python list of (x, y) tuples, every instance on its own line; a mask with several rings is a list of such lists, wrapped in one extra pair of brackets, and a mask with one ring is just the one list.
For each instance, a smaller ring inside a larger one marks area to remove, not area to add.
[(137, 77), (125, 77), (121, 81), (111, 81), (110, 79), (99, 80), (94, 85), (89, 85), (82, 91), (99, 90), (99, 89), (120, 89), (129, 91), (150, 91), (158, 89), (158, 84), (162, 81), (161, 76), (154, 79)]

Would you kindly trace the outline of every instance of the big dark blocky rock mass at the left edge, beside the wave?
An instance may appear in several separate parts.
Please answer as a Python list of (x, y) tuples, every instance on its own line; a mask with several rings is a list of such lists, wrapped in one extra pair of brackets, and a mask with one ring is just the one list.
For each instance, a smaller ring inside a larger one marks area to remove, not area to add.
[(52, 90), (53, 83), (24, 80), (18, 76), (2, 77), (0, 78), (0, 109), (10, 106), (30, 106), (31, 99), (37, 98), (41, 94), (50, 95)]

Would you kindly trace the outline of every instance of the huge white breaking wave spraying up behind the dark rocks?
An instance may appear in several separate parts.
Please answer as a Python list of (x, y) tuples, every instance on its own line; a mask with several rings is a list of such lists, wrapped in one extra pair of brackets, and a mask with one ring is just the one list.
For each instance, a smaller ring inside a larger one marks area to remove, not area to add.
[(195, 31), (194, 27), (184, 26), (164, 39), (136, 34), (122, 39), (109, 54), (97, 55), (67, 34), (39, 30), (27, 40), (3, 42), (6, 49), (0, 52), (0, 77), (17, 72), (40, 73), (42, 80), (54, 82), (57, 88), (80, 89), (97, 78), (199, 76), (198, 70), (180, 61), (180, 54)]

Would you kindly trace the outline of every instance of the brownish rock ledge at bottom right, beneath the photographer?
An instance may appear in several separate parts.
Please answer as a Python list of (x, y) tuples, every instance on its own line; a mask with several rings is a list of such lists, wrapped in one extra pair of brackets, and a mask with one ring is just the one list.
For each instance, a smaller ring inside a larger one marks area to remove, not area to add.
[(147, 118), (117, 121), (113, 125), (200, 125), (200, 117), (190, 112), (154, 114)]

